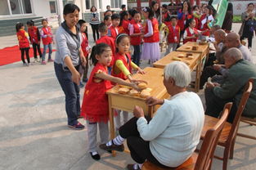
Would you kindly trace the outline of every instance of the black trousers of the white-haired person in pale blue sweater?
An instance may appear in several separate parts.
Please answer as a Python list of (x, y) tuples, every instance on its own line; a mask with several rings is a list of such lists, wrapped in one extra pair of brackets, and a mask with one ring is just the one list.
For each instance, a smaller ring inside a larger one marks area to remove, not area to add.
[[(150, 122), (150, 118), (146, 118)], [(168, 168), (155, 159), (150, 151), (150, 141), (144, 141), (140, 133), (137, 131), (137, 118), (133, 117), (122, 127), (119, 128), (119, 134), (127, 139), (127, 145), (130, 150), (132, 159), (137, 163), (144, 163), (146, 160), (154, 163), (155, 165)]]

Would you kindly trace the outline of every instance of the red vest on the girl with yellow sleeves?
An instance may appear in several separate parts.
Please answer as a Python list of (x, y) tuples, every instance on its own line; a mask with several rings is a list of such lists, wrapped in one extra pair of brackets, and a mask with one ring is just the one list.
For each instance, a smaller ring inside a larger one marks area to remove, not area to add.
[[(126, 59), (126, 57), (128, 58), (128, 60)], [(131, 65), (131, 56), (130, 54), (126, 53), (125, 56), (121, 55), (119, 52), (115, 53), (115, 60), (114, 60), (114, 66), (112, 69), (112, 75), (118, 78), (122, 78), (122, 79), (127, 79), (127, 77), (122, 73), (122, 71), (119, 70), (119, 68), (117, 68), (115, 66), (115, 62), (116, 60), (122, 60), (122, 62), (124, 63), (125, 67), (129, 70), (130, 73), (132, 73), (132, 65)], [(119, 73), (115, 73), (115, 71), (119, 71)]]

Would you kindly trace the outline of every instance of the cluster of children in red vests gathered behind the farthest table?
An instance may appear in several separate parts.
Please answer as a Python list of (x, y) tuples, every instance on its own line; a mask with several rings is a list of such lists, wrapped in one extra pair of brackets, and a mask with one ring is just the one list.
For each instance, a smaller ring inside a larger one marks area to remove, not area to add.
[(213, 7), (205, 4), (201, 8), (194, 6), (191, 11), (189, 2), (184, 1), (182, 9), (177, 11), (177, 17), (171, 16), (168, 10), (164, 10), (163, 23), (168, 34), (165, 55), (176, 50), (181, 38), (183, 43), (196, 42), (198, 39), (208, 40), (213, 20)]

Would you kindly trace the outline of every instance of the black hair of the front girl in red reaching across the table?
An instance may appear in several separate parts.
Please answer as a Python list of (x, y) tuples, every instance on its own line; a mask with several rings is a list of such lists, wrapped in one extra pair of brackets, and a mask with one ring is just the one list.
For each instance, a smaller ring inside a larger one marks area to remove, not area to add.
[[(97, 65), (97, 58), (96, 55), (101, 56), (101, 54), (106, 51), (106, 48), (110, 48), (109, 45), (107, 45), (106, 43), (98, 43), (97, 45), (92, 47), (92, 52), (91, 52), (91, 56), (90, 56), (90, 60), (91, 60), (91, 65)], [(111, 48), (110, 48), (111, 50)]]

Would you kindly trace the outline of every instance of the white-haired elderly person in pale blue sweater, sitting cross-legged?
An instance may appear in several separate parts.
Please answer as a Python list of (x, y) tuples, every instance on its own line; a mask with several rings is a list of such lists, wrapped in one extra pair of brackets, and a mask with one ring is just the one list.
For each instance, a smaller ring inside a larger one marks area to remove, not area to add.
[(119, 136), (106, 144), (104, 150), (124, 150), (124, 139), (136, 164), (128, 169), (141, 169), (145, 160), (160, 167), (177, 167), (190, 158), (200, 141), (204, 125), (204, 109), (200, 97), (186, 92), (191, 82), (191, 71), (183, 62), (173, 62), (164, 69), (164, 86), (169, 100), (154, 97), (146, 99), (147, 105), (162, 105), (152, 119), (144, 117), (143, 110), (135, 106), (134, 118), (121, 128)]

